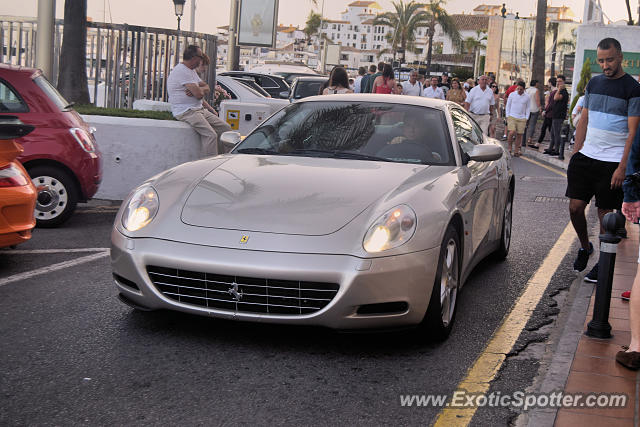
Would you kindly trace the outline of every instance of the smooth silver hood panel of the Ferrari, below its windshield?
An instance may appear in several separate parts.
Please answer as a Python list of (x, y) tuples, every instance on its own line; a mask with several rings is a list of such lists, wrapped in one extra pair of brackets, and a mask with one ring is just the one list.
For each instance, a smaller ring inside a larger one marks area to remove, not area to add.
[(238, 154), (196, 185), (181, 219), (199, 227), (326, 235), (427, 167)]

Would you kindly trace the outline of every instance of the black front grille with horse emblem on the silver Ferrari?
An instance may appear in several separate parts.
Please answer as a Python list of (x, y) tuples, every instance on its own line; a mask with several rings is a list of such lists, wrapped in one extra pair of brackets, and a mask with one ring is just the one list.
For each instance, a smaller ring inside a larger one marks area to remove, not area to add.
[(309, 314), (336, 296), (337, 283), (230, 276), (147, 266), (154, 286), (183, 304), (236, 312)]

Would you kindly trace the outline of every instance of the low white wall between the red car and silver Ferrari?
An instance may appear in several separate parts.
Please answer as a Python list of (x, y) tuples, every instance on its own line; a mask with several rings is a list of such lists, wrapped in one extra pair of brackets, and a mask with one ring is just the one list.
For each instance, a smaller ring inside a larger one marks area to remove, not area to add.
[(147, 178), (200, 156), (200, 137), (183, 122), (82, 117), (96, 128), (102, 152), (102, 183), (96, 199), (123, 200)]

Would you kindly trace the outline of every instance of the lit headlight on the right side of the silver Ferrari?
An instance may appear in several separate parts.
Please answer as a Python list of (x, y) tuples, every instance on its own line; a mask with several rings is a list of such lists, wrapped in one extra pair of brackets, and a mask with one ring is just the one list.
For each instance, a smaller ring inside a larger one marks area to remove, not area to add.
[(388, 210), (369, 227), (362, 246), (369, 253), (397, 248), (416, 231), (416, 213), (407, 205)]

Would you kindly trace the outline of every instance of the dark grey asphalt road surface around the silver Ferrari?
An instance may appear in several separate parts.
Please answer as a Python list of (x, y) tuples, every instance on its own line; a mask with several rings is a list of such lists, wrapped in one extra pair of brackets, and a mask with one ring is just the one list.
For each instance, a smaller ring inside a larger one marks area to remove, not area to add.
[[(98, 252), (115, 212), (81, 206), (63, 228), (0, 251), (0, 424), (430, 424), (441, 408), (402, 407), (400, 396), (455, 390), (568, 223), (562, 177), (522, 158), (514, 170), (511, 253), (474, 270), (441, 344), (133, 311)], [(69, 251), (82, 248), (91, 250)], [(574, 279), (569, 258), (550, 287)], [(510, 366), (494, 389), (524, 390), (536, 374), (535, 360)], [(474, 423), (513, 415), (483, 411)]]

